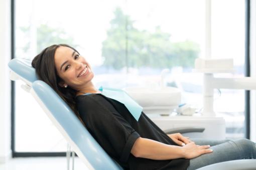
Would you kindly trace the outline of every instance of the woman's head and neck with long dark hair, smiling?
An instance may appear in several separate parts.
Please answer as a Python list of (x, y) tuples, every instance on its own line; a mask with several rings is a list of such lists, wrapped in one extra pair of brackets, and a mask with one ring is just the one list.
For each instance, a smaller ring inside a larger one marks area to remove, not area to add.
[(77, 115), (75, 97), (86, 92), (100, 92), (91, 82), (94, 74), (90, 64), (67, 44), (45, 48), (33, 59), (32, 66), (39, 78), (51, 85)]

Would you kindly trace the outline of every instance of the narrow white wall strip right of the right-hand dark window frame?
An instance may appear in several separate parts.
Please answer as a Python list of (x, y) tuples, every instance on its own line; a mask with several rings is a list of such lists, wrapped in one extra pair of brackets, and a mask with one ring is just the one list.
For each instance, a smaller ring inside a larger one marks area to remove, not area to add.
[[(256, 0), (250, 2), (250, 73), (256, 76)], [(250, 92), (250, 138), (256, 141), (256, 90)]]

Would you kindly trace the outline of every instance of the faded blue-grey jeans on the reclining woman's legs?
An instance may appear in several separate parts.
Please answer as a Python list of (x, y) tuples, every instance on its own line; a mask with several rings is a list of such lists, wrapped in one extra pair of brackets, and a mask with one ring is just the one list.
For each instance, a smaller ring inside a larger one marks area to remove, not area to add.
[(255, 143), (242, 139), (225, 139), (225, 140), (208, 140), (208, 139), (191, 139), (199, 145), (211, 145), (213, 152), (205, 153), (198, 157), (190, 159), (188, 170), (197, 169), (209, 164), (235, 160), (235, 159), (254, 159), (256, 158)]

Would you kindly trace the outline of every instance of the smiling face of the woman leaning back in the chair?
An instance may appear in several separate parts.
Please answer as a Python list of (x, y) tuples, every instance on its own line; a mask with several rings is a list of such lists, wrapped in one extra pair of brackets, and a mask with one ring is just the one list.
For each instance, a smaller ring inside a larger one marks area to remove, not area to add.
[(89, 63), (72, 48), (58, 47), (54, 60), (57, 73), (64, 81), (59, 83), (62, 87), (67, 84), (74, 89), (82, 89), (94, 76)]

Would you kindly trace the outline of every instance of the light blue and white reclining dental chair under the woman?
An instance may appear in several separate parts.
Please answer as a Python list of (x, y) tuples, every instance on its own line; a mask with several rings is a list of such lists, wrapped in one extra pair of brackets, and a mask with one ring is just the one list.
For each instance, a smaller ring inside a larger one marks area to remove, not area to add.
[[(61, 97), (44, 81), (38, 80), (35, 69), (31, 66), (31, 61), (15, 58), (9, 62), (9, 68), (11, 69), (10, 78), (12, 80), (21, 79), (25, 82), (22, 88), (35, 97), (52, 123), (67, 140), (73, 149), (73, 161), (75, 152), (89, 169), (122, 169), (122, 167), (102, 149)], [(174, 130), (175, 131), (169, 130), (168, 132), (172, 133), (177, 131), (177, 129)], [(184, 131), (184, 129), (182, 130)], [(70, 151), (68, 149), (68, 169), (69, 158)], [(220, 162), (199, 169), (256, 169), (256, 159)]]

